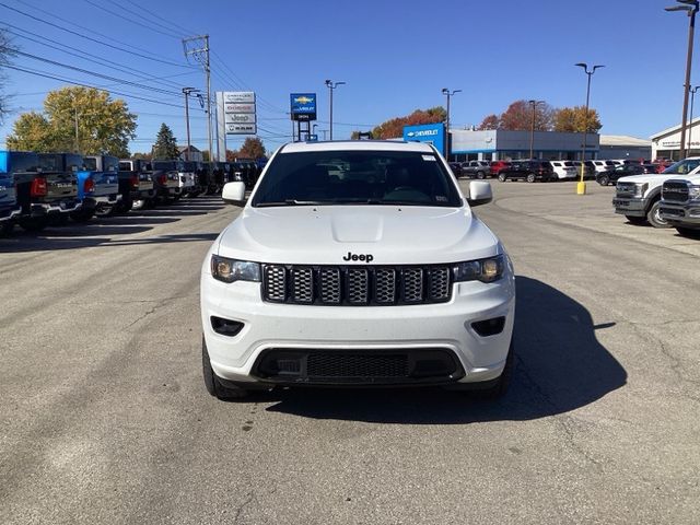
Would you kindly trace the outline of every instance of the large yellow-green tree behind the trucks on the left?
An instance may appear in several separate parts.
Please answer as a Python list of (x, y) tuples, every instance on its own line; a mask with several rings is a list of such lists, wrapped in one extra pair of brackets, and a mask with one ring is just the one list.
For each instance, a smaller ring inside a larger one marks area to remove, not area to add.
[(43, 114), (20, 116), (8, 147), (128, 156), (136, 127), (136, 115), (129, 113), (126, 102), (112, 100), (102, 90), (62, 88), (46, 95)]

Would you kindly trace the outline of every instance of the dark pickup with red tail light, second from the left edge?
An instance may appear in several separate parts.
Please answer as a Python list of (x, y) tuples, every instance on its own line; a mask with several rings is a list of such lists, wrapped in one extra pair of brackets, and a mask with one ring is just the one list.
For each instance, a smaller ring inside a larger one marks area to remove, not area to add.
[[(40, 155), (30, 152), (2, 152), (8, 155), (8, 173), (13, 174), (16, 199), (22, 208), (18, 223), (24, 230), (44, 230), (52, 218), (68, 219), (79, 210), (78, 177), (82, 158), (65, 168), (44, 163)], [(16, 166), (16, 167), (15, 167)]]

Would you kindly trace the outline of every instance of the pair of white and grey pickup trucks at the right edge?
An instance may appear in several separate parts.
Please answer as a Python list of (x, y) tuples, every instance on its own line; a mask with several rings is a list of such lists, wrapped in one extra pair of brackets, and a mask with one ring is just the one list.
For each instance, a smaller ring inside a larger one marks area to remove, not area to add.
[(675, 228), (684, 236), (700, 235), (700, 156), (684, 159), (658, 174), (617, 180), (615, 212), (632, 224)]

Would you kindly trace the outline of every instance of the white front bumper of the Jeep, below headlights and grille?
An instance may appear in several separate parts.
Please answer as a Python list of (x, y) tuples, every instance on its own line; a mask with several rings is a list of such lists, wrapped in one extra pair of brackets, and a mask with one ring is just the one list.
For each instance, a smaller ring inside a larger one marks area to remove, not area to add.
[[(355, 381), (353, 384), (477, 383), (499, 377), (511, 345), (515, 311), (515, 282), (506, 276), (498, 282), (453, 284), (447, 303), (401, 306), (310, 306), (264, 302), (260, 283), (217, 281), (201, 277), (201, 318), (214, 373), (236, 383), (314, 383), (300, 375), (288, 382), (270, 380), (264, 371), (265, 355), (289, 352), (301, 361), (323, 353), (386, 357), (445, 352), (456, 370), (439, 381)], [(243, 323), (235, 336), (214, 331), (211, 317)], [(481, 337), (472, 323), (503, 317), (502, 330)], [(295, 359), (296, 359), (295, 358)], [(435, 377), (433, 377), (435, 380)], [(334, 382), (338, 384), (338, 382)]]

